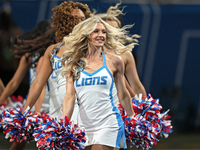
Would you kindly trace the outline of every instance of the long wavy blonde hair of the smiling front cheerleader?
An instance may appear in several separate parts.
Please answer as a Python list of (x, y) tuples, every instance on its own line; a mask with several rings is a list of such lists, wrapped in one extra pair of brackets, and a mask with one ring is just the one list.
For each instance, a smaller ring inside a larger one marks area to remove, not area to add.
[[(125, 46), (115, 38), (116, 36), (128, 37), (128, 31), (114, 28), (100, 17), (93, 16), (76, 25), (72, 33), (64, 37), (66, 51), (61, 58), (63, 66), (65, 66), (63, 74), (72, 72), (74, 79), (76, 79), (78, 76), (77, 69), (79, 67), (86, 67), (87, 61), (84, 56), (88, 50), (88, 45), (91, 44), (89, 43), (90, 34), (96, 29), (97, 23), (99, 22), (103, 23), (106, 28), (106, 41), (102, 48), (103, 51), (104, 49), (108, 49), (119, 55), (125, 51), (132, 51), (135, 43), (130, 43)], [(67, 62), (67, 65), (65, 65), (65, 62)]]

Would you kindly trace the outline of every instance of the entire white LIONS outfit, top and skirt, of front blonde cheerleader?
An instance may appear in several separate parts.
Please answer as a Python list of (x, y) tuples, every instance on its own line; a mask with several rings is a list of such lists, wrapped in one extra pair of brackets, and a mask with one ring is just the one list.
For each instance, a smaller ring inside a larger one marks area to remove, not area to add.
[(78, 98), (82, 124), (86, 131), (86, 146), (93, 144), (120, 148), (120, 141), (125, 143), (124, 123), (118, 108), (114, 105), (114, 80), (104, 65), (93, 73), (81, 70), (80, 78), (74, 82)]

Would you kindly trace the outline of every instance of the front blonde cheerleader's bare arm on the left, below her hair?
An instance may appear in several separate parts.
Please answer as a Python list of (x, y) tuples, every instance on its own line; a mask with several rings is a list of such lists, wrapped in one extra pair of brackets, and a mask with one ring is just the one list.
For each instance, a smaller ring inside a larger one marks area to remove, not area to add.
[(63, 118), (65, 116), (71, 119), (75, 104), (75, 87), (72, 75), (66, 75), (66, 95), (63, 100)]

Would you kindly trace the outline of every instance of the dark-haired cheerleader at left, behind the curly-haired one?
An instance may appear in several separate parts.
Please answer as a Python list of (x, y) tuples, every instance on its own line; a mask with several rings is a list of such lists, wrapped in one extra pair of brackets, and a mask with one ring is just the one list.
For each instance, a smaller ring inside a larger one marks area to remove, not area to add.
[[(12, 53), (15, 57), (20, 58), (20, 62), (14, 76), (1, 94), (0, 104), (17, 90), (27, 70), (29, 70), (29, 85), (32, 84), (36, 77), (36, 72), (40, 69), (40, 65), (37, 65), (37, 63), (41, 61), (40, 58), (44, 55), (46, 48), (53, 43), (55, 43), (55, 31), (51, 27), (51, 22), (46, 20), (41, 21), (32, 31), (26, 32), (16, 39)], [(35, 112), (49, 113), (49, 98), (48, 84), (46, 84), (43, 87), (41, 97), (38, 98), (35, 105)], [(41, 102), (42, 106), (40, 109)], [(12, 104), (12, 107), (15, 107), (15, 102), (10, 101), (10, 104)], [(19, 107), (23, 107), (23, 104)], [(25, 143), (14, 142), (10, 149), (23, 149)]]

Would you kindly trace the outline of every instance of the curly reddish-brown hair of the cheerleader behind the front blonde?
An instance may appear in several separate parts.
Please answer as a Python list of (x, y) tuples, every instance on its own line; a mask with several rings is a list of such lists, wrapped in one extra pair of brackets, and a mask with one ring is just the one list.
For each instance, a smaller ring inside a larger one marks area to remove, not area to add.
[(71, 15), (73, 9), (80, 9), (86, 18), (90, 17), (88, 5), (79, 2), (64, 1), (52, 9), (52, 24), (56, 30), (57, 42), (61, 42), (63, 37), (71, 33), (74, 26), (79, 23), (79, 18)]

